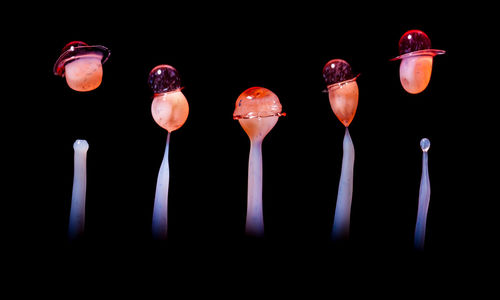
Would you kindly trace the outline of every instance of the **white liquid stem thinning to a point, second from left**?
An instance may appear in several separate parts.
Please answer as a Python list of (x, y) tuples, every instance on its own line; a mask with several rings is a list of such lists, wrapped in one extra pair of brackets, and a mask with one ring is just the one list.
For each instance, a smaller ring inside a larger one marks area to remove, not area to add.
[(155, 239), (166, 239), (167, 217), (168, 217), (168, 185), (170, 181), (170, 169), (168, 166), (168, 148), (170, 145), (170, 132), (167, 135), (165, 154), (158, 172), (156, 181), (155, 203), (153, 209), (152, 233)]

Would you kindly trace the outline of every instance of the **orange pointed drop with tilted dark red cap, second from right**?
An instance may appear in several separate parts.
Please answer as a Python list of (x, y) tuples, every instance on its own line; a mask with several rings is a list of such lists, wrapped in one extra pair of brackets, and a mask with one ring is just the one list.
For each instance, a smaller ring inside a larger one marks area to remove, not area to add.
[(345, 60), (332, 59), (323, 67), (323, 78), (328, 86), (328, 98), (333, 113), (348, 127), (358, 107), (357, 76), (353, 76), (351, 66)]

